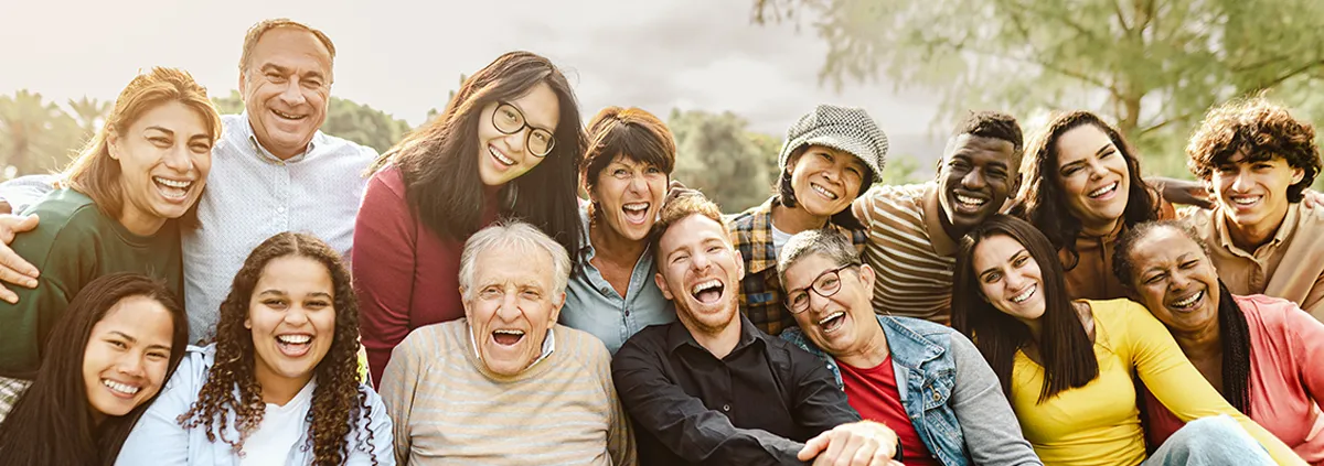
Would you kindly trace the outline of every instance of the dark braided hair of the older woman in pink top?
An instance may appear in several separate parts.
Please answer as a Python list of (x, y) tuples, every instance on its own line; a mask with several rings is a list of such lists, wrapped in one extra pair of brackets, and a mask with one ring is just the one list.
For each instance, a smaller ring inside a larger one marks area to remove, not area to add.
[[(1196, 234), (1190, 226), (1172, 221), (1151, 221), (1136, 225), (1121, 236), (1116, 250), (1112, 252), (1112, 273), (1123, 286), (1135, 290), (1136, 263), (1132, 261), (1132, 249), (1140, 240), (1161, 229), (1174, 229), (1181, 232), (1188, 240), (1200, 245), (1204, 259), (1213, 266), (1209, 258), (1209, 245)], [(1169, 328), (1170, 331), (1170, 328)], [(1231, 291), (1218, 279), (1218, 340), (1222, 346), (1223, 360), (1223, 387), (1222, 395), (1237, 410), (1250, 416), (1250, 324), (1246, 322), (1246, 312), (1237, 304)]]

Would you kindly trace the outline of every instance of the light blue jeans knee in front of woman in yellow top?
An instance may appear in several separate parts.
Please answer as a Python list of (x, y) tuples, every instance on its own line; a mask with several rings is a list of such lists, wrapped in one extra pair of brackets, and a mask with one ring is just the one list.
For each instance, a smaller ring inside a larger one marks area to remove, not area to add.
[(1268, 451), (1229, 416), (1202, 417), (1181, 428), (1140, 466), (1274, 465)]

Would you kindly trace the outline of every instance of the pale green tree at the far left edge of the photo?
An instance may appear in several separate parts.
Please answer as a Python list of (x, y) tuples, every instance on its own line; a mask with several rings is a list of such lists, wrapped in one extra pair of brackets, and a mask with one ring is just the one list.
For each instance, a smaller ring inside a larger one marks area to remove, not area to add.
[(0, 95), (0, 167), (12, 167), (4, 177), (64, 168), (85, 140), (78, 122), (41, 94)]

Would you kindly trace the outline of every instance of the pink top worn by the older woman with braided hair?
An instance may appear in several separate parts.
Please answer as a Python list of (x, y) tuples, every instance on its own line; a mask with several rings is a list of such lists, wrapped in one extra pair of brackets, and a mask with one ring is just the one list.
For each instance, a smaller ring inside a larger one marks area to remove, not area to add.
[[(1250, 326), (1250, 418), (1301, 459), (1324, 465), (1324, 323), (1296, 303), (1262, 294), (1237, 297)], [(1147, 432), (1161, 445), (1184, 424), (1145, 393)]]

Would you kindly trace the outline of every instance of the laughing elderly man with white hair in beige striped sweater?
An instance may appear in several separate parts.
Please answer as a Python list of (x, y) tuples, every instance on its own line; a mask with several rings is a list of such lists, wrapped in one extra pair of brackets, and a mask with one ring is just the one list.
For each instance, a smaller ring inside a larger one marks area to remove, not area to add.
[(636, 465), (597, 338), (556, 324), (571, 259), (532, 225), (474, 233), (465, 318), (416, 328), (381, 377), (400, 465)]

